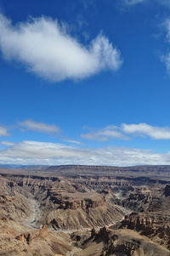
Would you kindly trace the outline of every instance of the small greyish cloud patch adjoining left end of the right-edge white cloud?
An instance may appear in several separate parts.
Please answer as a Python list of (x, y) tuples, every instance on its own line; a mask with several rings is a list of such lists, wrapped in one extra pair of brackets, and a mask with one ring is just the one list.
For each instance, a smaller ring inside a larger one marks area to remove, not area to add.
[(118, 131), (116, 126), (107, 126), (103, 129), (90, 132), (87, 134), (81, 134), (83, 139), (93, 139), (99, 141), (107, 141), (108, 139), (128, 139), (128, 137), (122, 132)]

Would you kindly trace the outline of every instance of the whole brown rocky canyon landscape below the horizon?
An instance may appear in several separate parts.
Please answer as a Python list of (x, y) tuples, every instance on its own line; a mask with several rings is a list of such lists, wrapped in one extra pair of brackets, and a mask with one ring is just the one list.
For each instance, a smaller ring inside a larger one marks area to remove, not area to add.
[(170, 167), (0, 168), (0, 256), (170, 255)]

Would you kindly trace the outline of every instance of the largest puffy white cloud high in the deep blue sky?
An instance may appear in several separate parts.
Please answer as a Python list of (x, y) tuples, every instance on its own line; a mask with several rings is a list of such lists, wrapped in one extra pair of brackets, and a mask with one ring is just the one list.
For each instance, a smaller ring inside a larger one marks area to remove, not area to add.
[(104, 35), (85, 46), (57, 20), (45, 17), (13, 26), (0, 14), (0, 48), (6, 60), (19, 60), (53, 82), (81, 79), (105, 69), (116, 71), (122, 65), (120, 52)]

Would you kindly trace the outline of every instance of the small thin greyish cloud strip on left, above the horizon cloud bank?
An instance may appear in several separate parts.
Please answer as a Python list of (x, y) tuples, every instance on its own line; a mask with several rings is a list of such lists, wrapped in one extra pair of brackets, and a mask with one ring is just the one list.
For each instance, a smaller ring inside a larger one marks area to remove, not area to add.
[(58, 134), (60, 132), (60, 128), (56, 125), (49, 125), (43, 122), (35, 122), (31, 119), (25, 120), (23, 122), (19, 122), (20, 127), (26, 128), (31, 131), (36, 131), (40, 133), (47, 134)]

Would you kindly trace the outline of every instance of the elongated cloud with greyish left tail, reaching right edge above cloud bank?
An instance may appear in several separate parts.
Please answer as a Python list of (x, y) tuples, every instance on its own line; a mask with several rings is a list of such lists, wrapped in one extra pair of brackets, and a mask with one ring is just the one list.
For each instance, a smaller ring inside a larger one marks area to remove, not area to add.
[(148, 136), (151, 139), (170, 139), (170, 128), (156, 127), (147, 123), (107, 126), (95, 132), (81, 134), (83, 139), (107, 141), (108, 139), (131, 139), (132, 136)]

